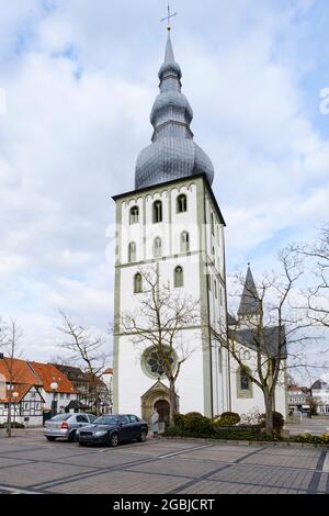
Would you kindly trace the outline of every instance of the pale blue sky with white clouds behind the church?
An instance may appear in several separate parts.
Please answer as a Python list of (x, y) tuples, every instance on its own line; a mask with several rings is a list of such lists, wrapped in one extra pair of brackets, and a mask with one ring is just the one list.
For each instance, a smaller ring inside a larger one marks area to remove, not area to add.
[[(58, 355), (58, 309), (105, 334), (112, 195), (134, 189), (164, 0), (0, 0), (0, 315)], [(172, 0), (195, 141), (215, 167), (228, 272), (275, 267), (329, 220), (329, 4)], [(111, 337), (107, 336), (107, 344)]]

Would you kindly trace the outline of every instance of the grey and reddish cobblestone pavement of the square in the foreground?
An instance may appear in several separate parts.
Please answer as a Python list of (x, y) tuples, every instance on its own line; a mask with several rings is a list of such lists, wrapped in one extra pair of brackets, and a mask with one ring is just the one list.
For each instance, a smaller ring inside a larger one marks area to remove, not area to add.
[(118, 448), (0, 437), (0, 493), (329, 493), (326, 448), (154, 440)]

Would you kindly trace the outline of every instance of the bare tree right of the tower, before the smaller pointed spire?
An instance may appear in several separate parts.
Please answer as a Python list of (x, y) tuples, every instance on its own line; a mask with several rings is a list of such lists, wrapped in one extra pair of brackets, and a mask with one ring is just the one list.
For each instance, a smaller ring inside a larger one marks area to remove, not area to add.
[[(290, 249), (281, 251), (281, 273), (265, 273), (257, 289), (245, 284), (241, 274), (236, 282), (245, 287), (249, 303), (257, 307), (254, 313), (246, 314), (243, 319), (236, 314), (231, 318), (227, 335), (213, 330), (213, 337), (228, 349), (240, 371), (262, 392), (265, 406), (265, 430), (273, 435), (273, 411), (275, 389), (284, 383), (287, 370), (286, 359), (292, 367), (304, 366), (300, 348), (310, 335), (305, 333), (311, 323), (295, 307), (295, 287), (303, 274), (302, 261)], [(293, 348), (293, 345), (295, 348)], [(251, 348), (254, 355), (253, 368), (249, 368), (241, 349)]]

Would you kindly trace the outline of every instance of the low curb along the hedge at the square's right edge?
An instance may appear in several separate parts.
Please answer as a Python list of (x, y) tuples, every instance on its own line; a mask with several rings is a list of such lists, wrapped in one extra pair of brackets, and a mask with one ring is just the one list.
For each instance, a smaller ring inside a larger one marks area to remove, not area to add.
[(234, 440), (234, 439), (212, 439), (205, 437), (180, 437), (180, 436), (159, 436), (163, 440), (184, 440), (192, 442), (212, 442), (213, 445), (230, 445), (230, 446), (262, 446), (269, 448), (325, 448), (328, 449), (329, 445), (318, 445), (314, 442), (288, 442), (288, 441), (263, 441), (263, 440)]

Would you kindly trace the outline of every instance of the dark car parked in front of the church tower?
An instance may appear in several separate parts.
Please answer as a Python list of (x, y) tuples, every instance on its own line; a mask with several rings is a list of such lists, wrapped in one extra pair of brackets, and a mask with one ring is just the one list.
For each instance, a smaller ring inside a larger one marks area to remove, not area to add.
[(79, 445), (109, 445), (117, 446), (120, 442), (137, 439), (146, 440), (147, 424), (133, 414), (109, 414), (99, 417), (92, 425), (79, 429), (76, 439)]

